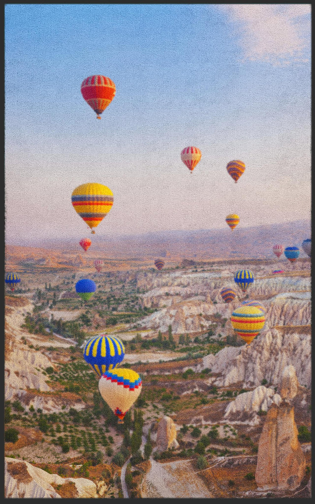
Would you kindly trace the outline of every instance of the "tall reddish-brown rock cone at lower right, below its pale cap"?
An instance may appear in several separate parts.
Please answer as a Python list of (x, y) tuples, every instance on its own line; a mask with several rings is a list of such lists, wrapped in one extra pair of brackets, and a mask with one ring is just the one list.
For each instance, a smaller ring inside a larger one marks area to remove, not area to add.
[(297, 438), (294, 408), (272, 404), (259, 440), (255, 479), (259, 489), (297, 488), (304, 476), (305, 457)]

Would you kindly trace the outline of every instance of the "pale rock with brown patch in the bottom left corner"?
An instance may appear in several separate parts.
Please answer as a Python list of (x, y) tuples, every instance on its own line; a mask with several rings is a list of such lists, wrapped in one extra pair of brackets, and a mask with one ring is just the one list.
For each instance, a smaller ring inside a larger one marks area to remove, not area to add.
[(86, 478), (61, 478), (20, 459), (5, 457), (5, 498), (60, 498), (52, 484), (73, 482), (74, 497), (97, 497), (96, 485)]

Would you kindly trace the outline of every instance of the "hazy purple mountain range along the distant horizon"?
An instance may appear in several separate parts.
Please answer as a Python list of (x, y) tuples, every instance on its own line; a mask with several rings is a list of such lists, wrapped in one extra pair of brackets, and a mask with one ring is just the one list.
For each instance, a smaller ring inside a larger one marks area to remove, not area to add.
[[(98, 231), (98, 230), (97, 230)], [(96, 233), (97, 233), (96, 231)], [(301, 248), (302, 241), (311, 237), (310, 219), (264, 224), (260, 226), (227, 229), (168, 230), (137, 235), (95, 234), (90, 250), (106, 257), (182, 257), (209, 259), (262, 258), (274, 259), (273, 245), (298, 246), (300, 257), (307, 257)], [(89, 236), (87, 231), (85, 236)], [(83, 236), (82, 236), (83, 237)], [(82, 238), (81, 237), (81, 238)], [(68, 240), (38, 240), (27, 243), (6, 243), (58, 249), (58, 251), (83, 252), (81, 238)]]

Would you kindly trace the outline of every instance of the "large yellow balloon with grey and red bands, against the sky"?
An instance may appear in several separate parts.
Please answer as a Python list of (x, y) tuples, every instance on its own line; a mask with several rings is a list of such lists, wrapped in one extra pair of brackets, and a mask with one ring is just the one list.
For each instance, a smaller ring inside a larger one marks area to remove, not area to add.
[[(109, 187), (96, 182), (78, 185), (71, 201), (75, 211), (92, 229), (99, 225), (112, 207), (114, 198)], [(92, 233), (95, 231), (92, 229)]]

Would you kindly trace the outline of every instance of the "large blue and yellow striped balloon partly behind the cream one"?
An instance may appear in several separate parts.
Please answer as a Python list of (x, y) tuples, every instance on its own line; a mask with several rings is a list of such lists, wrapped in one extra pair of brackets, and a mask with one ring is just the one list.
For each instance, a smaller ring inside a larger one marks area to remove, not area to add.
[(124, 357), (124, 346), (119, 338), (99, 334), (91, 338), (84, 347), (83, 356), (92, 369), (101, 375), (112, 370)]

